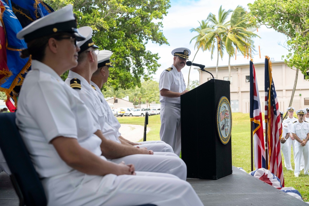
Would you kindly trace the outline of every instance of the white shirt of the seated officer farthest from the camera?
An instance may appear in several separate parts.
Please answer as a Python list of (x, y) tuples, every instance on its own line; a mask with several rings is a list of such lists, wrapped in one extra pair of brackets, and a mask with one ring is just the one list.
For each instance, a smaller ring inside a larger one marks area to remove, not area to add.
[(94, 82), (90, 83), (95, 87), (96, 91), (93, 88), (92, 90), (95, 91), (95, 93), (97, 94), (97, 97), (100, 99), (101, 102), (101, 107), (104, 110), (104, 119), (101, 119), (101, 121), (105, 122), (103, 127), (101, 128), (104, 137), (109, 140), (121, 143), (119, 140), (119, 136), (121, 135), (121, 133), (119, 132), (119, 128), (121, 126), (120, 123), (114, 116), (112, 109), (108, 106), (108, 103), (104, 99), (104, 95), (102, 94), (99, 87)]

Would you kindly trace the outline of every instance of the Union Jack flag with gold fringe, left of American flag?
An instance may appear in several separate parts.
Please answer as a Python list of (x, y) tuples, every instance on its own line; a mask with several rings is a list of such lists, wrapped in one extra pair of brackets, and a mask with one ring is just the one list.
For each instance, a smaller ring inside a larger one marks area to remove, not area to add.
[(259, 89), (256, 82), (253, 61), (250, 61), (250, 121), (253, 122), (254, 166), (255, 169), (265, 168), (265, 143), (262, 124), (262, 111)]

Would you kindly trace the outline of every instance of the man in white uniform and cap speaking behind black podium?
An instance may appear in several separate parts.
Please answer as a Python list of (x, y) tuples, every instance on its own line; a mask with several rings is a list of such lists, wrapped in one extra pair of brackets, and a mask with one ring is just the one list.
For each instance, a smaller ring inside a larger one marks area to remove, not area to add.
[(180, 155), (180, 95), (187, 93), (181, 69), (186, 65), (191, 51), (188, 48), (176, 48), (172, 52), (173, 64), (160, 75), (159, 90), (161, 103), (160, 139), (171, 145), (174, 153)]

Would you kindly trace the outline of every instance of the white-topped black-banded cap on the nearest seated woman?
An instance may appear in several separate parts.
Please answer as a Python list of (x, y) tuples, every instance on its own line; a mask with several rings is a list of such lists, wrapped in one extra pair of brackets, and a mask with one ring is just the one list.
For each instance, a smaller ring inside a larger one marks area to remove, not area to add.
[(71, 4), (35, 20), (20, 30), (16, 37), (18, 39), (24, 39), (28, 43), (40, 37), (56, 33), (72, 33), (77, 41), (85, 39), (77, 31), (76, 18), (73, 14), (73, 6)]

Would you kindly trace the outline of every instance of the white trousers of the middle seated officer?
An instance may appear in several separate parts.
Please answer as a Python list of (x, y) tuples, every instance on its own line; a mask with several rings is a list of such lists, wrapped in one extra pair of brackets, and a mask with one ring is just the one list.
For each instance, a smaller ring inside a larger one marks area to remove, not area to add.
[(182, 159), (171, 152), (151, 154), (132, 154), (122, 158), (109, 159), (112, 162), (134, 164), (136, 171), (174, 174), (182, 180), (187, 179), (187, 166)]

